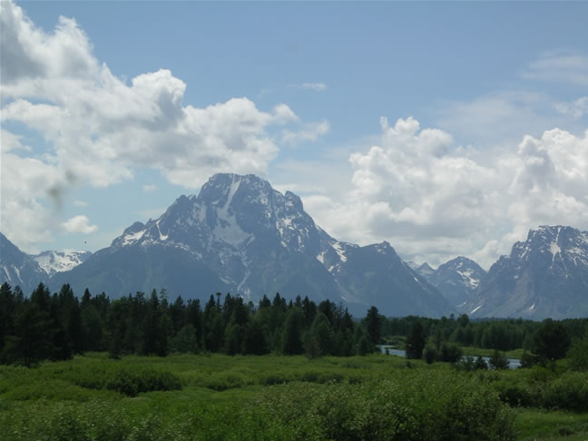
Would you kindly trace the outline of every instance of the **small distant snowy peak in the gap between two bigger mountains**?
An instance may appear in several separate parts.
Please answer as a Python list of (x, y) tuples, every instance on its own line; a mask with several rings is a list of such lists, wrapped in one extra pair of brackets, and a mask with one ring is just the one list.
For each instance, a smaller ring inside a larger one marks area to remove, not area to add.
[(428, 269), (431, 271), (418, 272), (454, 306), (464, 303), (486, 275), (474, 260), (465, 257), (449, 260), (436, 270)]

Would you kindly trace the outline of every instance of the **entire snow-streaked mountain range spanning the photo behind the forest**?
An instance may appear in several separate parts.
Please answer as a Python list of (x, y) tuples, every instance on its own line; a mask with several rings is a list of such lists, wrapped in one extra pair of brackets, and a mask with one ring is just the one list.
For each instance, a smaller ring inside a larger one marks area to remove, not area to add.
[(540, 227), (488, 274), (458, 257), (436, 270), (401, 260), (386, 241), (360, 247), (315, 224), (299, 197), (254, 175), (217, 174), (198, 196), (181, 196), (157, 220), (135, 222), (93, 254), (30, 256), (0, 234), (0, 282), (25, 294), (39, 281), (80, 294), (165, 288), (208, 299), (231, 292), (257, 301), (279, 292), (341, 302), (356, 316), (578, 317), (588, 314), (588, 233)]

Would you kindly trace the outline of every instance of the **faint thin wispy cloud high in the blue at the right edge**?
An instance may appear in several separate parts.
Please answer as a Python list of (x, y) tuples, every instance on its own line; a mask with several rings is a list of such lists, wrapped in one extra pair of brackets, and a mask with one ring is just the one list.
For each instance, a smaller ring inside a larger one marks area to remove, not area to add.
[(542, 54), (522, 73), (525, 79), (588, 85), (588, 56), (569, 51)]

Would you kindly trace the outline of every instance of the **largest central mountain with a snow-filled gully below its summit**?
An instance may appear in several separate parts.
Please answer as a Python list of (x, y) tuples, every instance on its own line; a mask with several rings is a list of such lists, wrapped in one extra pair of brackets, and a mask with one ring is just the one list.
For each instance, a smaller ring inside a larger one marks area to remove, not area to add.
[(230, 291), (256, 301), (279, 292), (344, 302), (363, 316), (441, 316), (450, 305), (383, 242), (359, 247), (333, 239), (290, 191), (255, 175), (217, 174), (198, 196), (181, 196), (157, 220), (135, 222), (81, 265), (54, 274), (112, 297), (153, 288), (208, 299)]

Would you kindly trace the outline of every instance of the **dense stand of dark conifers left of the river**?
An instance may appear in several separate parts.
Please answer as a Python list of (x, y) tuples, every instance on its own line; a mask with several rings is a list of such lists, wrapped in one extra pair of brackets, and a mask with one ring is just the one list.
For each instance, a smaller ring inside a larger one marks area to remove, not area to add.
[(230, 294), (168, 300), (165, 289), (110, 300), (87, 289), (78, 299), (65, 284), (50, 293), (40, 283), (25, 298), (19, 287), (0, 287), (0, 363), (31, 366), (85, 351), (165, 356), (178, 352), (229, 355), (270, 352), (309, 357), (365, 354), (379, 343), (381, 316), (372, 307), (359, 324), (347, 309), (305, 297), (289, 302), (276, 294), (258, 305)]

